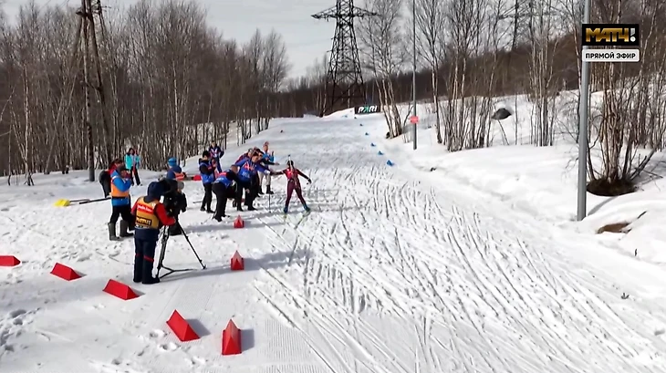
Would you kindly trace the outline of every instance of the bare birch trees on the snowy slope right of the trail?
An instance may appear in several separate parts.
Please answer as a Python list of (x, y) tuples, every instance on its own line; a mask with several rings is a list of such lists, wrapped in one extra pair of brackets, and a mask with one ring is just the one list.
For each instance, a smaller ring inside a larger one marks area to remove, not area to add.
[[(415, 20), (411, 3), (361, 4), (379, 14), (359, 25), (359, 47), (390, 136), (401, 135), (409, 115), (396, 104), (411, 100), (415, 21), (417, 98), (427, 102), (437, 140), (447, 150), (489, 146), (496, 125), (494, 98), (509, 95), (526, 95), (533, 104), (531, 143), (553, 145), (563, 131), (578, 139), (580, 97), (567, 103), (565, 123), (558, 116), (565, 111), (558, 97), (580, 85), (583, 1), (416, 0)], [(630, 191), (651, 155), (664, 147), (666, 2), (592, 0), (591, 9), (591, 23), (641, 27), (640, 63), (596, 63), (591, 70), (592, 91), (603, 98), (591, 107), (590, 191), (617, 194)], [(294, 89), (283, 98), (289, 104), (281, 107), (317, 109), (319, 103), (307, 93), (319, 91), (319, 80), (292, 82)]]

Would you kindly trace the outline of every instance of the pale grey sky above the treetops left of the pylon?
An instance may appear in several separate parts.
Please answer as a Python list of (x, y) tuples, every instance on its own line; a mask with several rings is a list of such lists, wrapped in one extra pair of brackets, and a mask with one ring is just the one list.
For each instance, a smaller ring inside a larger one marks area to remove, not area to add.
[[(0, 0), (7, 16), (16, 16), (20, 5), (28, 0)], [(37, 5), (78, 5), (80, 0), (35, 0)], [(102, 0), (117, 12), (137, 0)], [(209, 25), (220, 29), (225, 37), (247, 41), (258, 27), (264, 32), (276, 29), (285, 39), (291, 77), (304, 75), (315, 59), (331, 47), (334, 21), (317, 21), (311, 15), (335, 5), (335, 0), (197, 0), (208, 10)]]

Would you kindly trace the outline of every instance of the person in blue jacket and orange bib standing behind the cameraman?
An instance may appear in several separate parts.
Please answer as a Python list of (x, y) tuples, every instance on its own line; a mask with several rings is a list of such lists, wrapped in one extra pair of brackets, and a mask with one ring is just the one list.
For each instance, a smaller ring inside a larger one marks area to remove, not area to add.
[(134, 216), (131, 214), (131, 174), (120, 165), (111, 172), (111, 218), (109, 219), (109, 240), (117, 241), (116, 223), (118, 218), (122, 217), (120, 222), (120, 237), (130, 237), (132, 234), (128, 231), (134, 230)]

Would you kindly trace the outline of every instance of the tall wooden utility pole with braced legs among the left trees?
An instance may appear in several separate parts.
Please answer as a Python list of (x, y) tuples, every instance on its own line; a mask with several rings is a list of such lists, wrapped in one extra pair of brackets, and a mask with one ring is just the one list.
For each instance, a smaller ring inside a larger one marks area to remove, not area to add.
[[(99, 61), (99, 48), (98, 40), (96, 35), (95, 27), (95, 18), (94, 16), (99, 16), (100, 23), (103, 22), (101, 5), (99, 0), (95, 1), (95, 7), (92, 5), (92, 0), (81, 0), (81, 7), (77, 11), (77, 15), (81, 17), (80, 27), (78, 29), (78, 38), (80, 37), (81, 43), (83, 44), (83, 78), (84, 78), (84, 98), (85, 98), (85, 110), (84, 110), (84, 123), (86, 125), (87, 135), (88, 135), (88, 180), (95, 181), (95, 143), (93, 140), (92, 132), (92, 118), (90, 113), (91, 98), (90, 98), (90, 88), (95, 88), (97, 93), (98, 102), (100, 104), (99, 113), (101, 114), (102, 121), (102, 134), (99, 141), (99, 157), (102, 156), (109, 158), (111, 153), (109, 151), (109, 125), (107, 122), (106, 116), (106, 99), (104, 95), (104, 87), (102, 85), (102, 73), (101, 73), (101, 63)], [(102, 30), (103, 30), (103, 25)], [(103, 35), (103, 33), (102, 33)], [(76, 46), (81, 47), (81, 46)], [(90, 55), (90, 49), (92, 49), (92, 56)], [(91, 67), (95, 67), (95, 82), (91, 82), (90, 74)], [(104, 147), (101, 146), (103, 142)], [(102, 149), (104, 151), (102, 151)], [(109, 161), (109, 160), (106, 160)], [(106, 161), (104, 163), (106, 163)]]

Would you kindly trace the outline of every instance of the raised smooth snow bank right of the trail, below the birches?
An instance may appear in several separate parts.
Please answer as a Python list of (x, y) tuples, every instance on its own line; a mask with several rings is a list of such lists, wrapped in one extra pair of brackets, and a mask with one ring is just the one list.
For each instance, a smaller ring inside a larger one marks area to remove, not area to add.
[[(469, 184), (478, 192), (489, 194), (512, 209), (530, 213), (535, 219), (566, 226), (580, 233), (597, 234), (608, 224), (628, 223), (629, 233), (601, 233), (597, 239), (608, 247), (622, 250), (654, 263), (666, 262), (666, 181), (663, 167), (651, 171), (657, 181), (640, 187), (639, 192), (616, 198), (588, 193), (588, 217), (576, 222), (578, 207), (578, 145), (566, 123), (573, 115), (567, 102), (575, 102), (576, 92), (563, 92), (557, 123), (560, 134), (557, 145), (535, 147), (520, 145), (529, 140), (533, 104), (525, 97), (496, 98), (494, 109), (505, 108), (512, 116), (502, 120), (494, 130), (494, 147), (449, 153), (437, 144), (434, 129), (419, 127), (418, 150), (402, 139), (382, 140), (386, 125), (382, 120), (365, 120), (377, 126), (372, 140), (380, 144), (397, 165), (432, 173), (438, 181), (451, 178)], [(598, 100), (598, 95), (593, 97)], [(432, 120), (432, 114), (421, 114), (421, 123)], [(496, 123), (496, 122), (495, 122)], [(515, 146), (502, 146), (505, 144)], [(666, 155), (656, 154), (653, 163), (663, 164)], [(641, 215), (642, 214), (642, 215)], [(640, 219), (639, 219), (640, 216)]]

